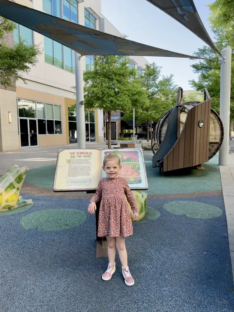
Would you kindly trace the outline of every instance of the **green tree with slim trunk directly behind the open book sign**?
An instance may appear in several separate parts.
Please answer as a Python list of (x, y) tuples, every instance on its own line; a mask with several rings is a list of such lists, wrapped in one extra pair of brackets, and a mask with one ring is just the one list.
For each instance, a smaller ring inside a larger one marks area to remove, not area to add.
[(108, 113), (108, 148), (111, 149), (111, 111), (131, 109), (130, 81), (135, 70), (129, 69), (123, 56), (97, 56), (94, 69), (84, 73), (86, 109)]

